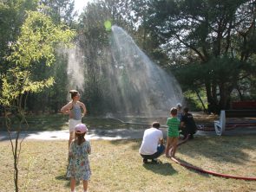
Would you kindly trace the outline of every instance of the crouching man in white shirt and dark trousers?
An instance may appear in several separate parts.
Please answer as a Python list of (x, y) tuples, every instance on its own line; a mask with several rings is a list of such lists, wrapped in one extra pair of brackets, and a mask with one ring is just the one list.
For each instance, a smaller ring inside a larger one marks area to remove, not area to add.
[(141, 148), (139, 150), (143, 163), (148, 163), (148, 159), (152, 163), (158, 163), (157, 158), (165, 151), (163, 144), (163, 134), (159, 130), (160, 124), (154, 122), (152, 127), (144, 131)]

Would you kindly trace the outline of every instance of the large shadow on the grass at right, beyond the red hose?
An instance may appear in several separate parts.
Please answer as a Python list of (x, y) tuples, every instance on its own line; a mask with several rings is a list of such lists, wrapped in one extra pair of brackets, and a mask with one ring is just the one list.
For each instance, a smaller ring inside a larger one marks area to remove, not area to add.
[(201, 155), (216, 162), (244, 164), (249, 159), (245, 150), (255, 148), (255, 136), (200, 137), (181, 144), (178, 152), (189, 157)]

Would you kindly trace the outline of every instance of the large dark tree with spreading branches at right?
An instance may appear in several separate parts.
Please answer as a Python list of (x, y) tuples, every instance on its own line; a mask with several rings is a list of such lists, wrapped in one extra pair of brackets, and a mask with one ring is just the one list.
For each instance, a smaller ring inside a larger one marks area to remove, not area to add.
[(249, 58), (255, 54), (255, 45), (250, 44), (255, 37), (255, 2), (162, 0), (149, 1), (148, 6), (149, 26), (158, 35), (161, 48), (175, 60), (175, 55), (180, 55), (182, 63), (176, 60), (172, 65), (182, 70), (199, 65), (196, 75), (190, 76), (185, 70), (183, 78), (200, 77), (197, 79), (206, 90), (213, 112), (228, 108), (231, 93), (252, 66)]

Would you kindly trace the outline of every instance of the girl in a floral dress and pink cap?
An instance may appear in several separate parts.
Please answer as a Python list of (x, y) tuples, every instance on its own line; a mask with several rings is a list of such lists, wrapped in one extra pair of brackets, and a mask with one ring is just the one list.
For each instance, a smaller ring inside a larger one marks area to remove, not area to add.
[(75, 140), (70, 144), (69, 149), (69, 166), (67, 177), (70, 177), (71, 192), (75, 192), (75, 181), (82, 180), (83, 191), (88, 189), (88, 181), (91, 176), (89, 167), (89, 157), (91, 147), (89, 141), (84, 138), (88, 129), (86, 125), (75, 125)]

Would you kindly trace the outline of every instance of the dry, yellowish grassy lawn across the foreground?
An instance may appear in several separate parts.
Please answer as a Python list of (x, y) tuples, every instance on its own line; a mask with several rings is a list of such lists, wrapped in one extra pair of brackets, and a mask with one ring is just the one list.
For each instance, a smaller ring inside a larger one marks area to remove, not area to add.
[[(160, 158), (161, 164), (143, 165), (140, 144), (141, 140), (91, 141), (89, 191), (256, 191), (255, 181), (201, 174), (166, 157)], [(67, 141), (25, 140), (19, 163), (21, 191), (69, 191), (67, 145)], [(256, 177), (255, 149), (255, 136), (198, 137), (181, 145), (176, 155), (206, 170)], [(0, 142), (0, 162), (0, 191), (13, 191), (9, 141)], [(82, 191), (82, 184), (77, 191)]]

